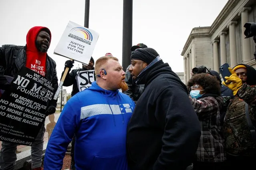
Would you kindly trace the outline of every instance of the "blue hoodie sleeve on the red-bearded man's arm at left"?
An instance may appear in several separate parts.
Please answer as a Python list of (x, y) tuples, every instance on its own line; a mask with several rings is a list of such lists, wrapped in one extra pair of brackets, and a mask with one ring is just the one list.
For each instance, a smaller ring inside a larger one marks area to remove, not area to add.
[(81, 103), (75, 95), (69, 99), (62, 110), (47, 144), (44, 170), (61, 170), (67, 146), (80, 123), (80, 105)]

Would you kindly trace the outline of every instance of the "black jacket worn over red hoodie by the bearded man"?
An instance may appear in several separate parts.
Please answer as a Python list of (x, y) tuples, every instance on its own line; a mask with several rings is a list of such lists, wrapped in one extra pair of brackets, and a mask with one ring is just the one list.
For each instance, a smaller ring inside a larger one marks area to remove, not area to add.
[[(13, 63), (13, 64), (12, 64)], [(0, 47), (0, 74), (14, 77), (26, 65), (26, 46), (2, 45)], [(46, 79), (48, 79), (54, 88), (55, 94), (58, 88), (58, 78), (55, 61), (47, 55), (46, 57)], [(56, 101), (51, 105), (56, 106)]]

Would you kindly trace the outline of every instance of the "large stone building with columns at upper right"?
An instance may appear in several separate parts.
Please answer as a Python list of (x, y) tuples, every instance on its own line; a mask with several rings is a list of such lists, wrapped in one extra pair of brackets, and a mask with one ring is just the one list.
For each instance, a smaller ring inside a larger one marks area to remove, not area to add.
[(256, 0), (228, 0), (212, 26), (193, 28), (181, 53), (185, 82), (192, 68), (201, 65), (215, 71), (224, 63), (256, 67), (256, 44), (253, 38), (245, 39), (246, 22), (256, 22)]

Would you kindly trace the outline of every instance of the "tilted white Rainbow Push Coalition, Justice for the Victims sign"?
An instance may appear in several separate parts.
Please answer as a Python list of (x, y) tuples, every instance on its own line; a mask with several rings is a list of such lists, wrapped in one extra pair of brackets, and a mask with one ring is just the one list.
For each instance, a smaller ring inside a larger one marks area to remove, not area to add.
[(88, 64), (98, 38), (99, 34), (94, 30), (69, 21), (54, 54)]

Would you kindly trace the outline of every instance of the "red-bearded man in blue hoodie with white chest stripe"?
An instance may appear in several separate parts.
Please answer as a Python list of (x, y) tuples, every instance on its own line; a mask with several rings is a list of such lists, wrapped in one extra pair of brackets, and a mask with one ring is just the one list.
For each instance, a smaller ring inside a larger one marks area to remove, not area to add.
[(116, 57), (95, 63), (96, 81), (71, 97), (48, 142), (44, 170), (60, 170), (72, 137), (76, 136), (77, 170), (127, 170), (126, 129), (134, 102), (127, 90), (125, 72)]

